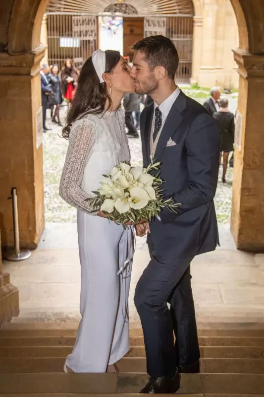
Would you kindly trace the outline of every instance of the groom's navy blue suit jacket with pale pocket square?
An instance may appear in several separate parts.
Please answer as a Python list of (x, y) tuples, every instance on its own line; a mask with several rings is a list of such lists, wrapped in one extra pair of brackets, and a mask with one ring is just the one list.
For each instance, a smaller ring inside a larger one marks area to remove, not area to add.
[[(154, 104), (140, 119), (144, 166), (150, 160), (150, 133)], [(166, 146), (169, 139), (176, 145)], [(160, 134), (155, 153), (160, 161), (164, 196), (181, 203), (178, 214), (168, 209), (153, 219), (148, 242), (161, 263), (213, 251), (219, 244), (213, 198), (219, 164), (219, 128), (209, 112), (182, 91)]]

